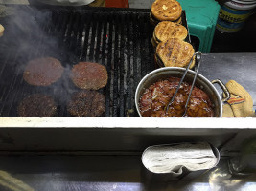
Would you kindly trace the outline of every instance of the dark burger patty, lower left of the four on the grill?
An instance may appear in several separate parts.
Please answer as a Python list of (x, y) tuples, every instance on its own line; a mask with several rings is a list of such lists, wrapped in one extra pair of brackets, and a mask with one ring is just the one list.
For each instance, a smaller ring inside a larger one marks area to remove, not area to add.
[(53, 117), (57, 105), (51, 96), (35, 94), (24, 98), (17, 111), (18, 117)]

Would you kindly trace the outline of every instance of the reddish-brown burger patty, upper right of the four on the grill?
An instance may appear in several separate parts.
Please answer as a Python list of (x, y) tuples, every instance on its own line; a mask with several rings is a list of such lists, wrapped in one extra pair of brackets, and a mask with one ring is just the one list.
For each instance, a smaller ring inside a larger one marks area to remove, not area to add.
[(73, 66), (70, 78), (81, 89), (98, 90), (105, 87), (108, 76), (105, 66), (92, 62), (80, 62)]

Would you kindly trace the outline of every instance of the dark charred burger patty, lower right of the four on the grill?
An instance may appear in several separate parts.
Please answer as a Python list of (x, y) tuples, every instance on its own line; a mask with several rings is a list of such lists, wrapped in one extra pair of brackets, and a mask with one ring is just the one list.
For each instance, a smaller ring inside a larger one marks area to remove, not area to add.
[(105, 112), (105, 96), (93, 90), (77, 92), (71, 97), (67, 110), (75, 117), (99, 117)]

